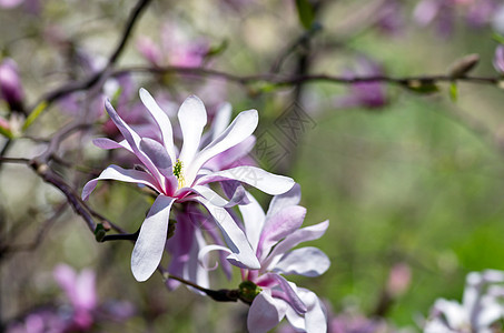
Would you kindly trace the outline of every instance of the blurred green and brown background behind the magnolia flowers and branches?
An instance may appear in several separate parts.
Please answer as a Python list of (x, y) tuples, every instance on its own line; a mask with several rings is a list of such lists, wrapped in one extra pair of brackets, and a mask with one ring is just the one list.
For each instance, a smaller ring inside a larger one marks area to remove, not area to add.
[[(3, 64), (17, 63), (22, 90), (14, 101), (3, 93), (0, 104), (4, 157), (37, 157), (55, 132), (86, 119), (93, 124), (68, 135), (53, 164), (80, 193), (111, 158), (91, 140), (117, 135), (103, 97), (139, 123), (140, 87), (174, 115), (189, 94), (210, 114), (229, 101), (234, 114), (259, 111), (257, 143), (270, 154), (258, 147), (251, 157), (302, 185), (305, 225), (330, 221), (309, 244), (328, 254), (329, 271), (293, 281), (324, 299), (332, 315), (385, 321), (379, 332), (419, 332), (437, 297), (461, 300), (468, 272), (504, 270), (504, 94), (497, 81), (435, 81), (423, 91), (394, 82), (274, 84), (309, 74), (447, 75), (473, 53), (480, 62), (471, 75), (498, 78), (504, 2), (152, 1), (113, 63), (113, 78), (55, 99), (22, 129), (48, 93), (103, 69), (135, 4), (0, 1), (0, 54)], [(208, 72), (184, 70), (192, 68)], [(263, 77), (240, 82), (233, 75)], [(168, 291), (157, 275), (136, 282), (129, 242), (98, 243), (65, 196), (27, 165), (0, 167), (3, 325), (40, 309), (65, 313), (71, 302), (53, 274), (65, 263), (96, 272), (103, 317), (95, 332), (245, 330), (246, 305), (216, 303), (184, 286)], [(259, 199), (267, 208), (270, 199)], [(135, 232), (150, 202), (116, 182), (99, 186), (89, 204)], [(235, 287), (235, 275), (228, 282), (217, 271), (213, 286)]]

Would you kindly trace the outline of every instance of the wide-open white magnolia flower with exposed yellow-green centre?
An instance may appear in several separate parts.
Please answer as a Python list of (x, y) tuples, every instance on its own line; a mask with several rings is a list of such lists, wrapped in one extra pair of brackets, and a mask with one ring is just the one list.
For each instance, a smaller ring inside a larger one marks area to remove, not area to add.
[(241, 112), (220, 135), (205, 148), (199, 149), (201, 133), (207, 123), (207, 113), (202, 102), (197, 97), (187, 98), (178, 111), (184, 139), (182, 148), (178, 151), (174, 144), (172, 128), (168, 115), (159, 108), (147, 90), (140, 89), (140, 99), (158, 125), (161, 142), (141, 138), (107, 101), (106, 110), (125, 140), (116, 142), (110, 139), (97, 139), (95, 144), (103, 149), (127, 149), (140, 160), (145, 170), (126, 170), (112, 164), (82, 189), (83, 200), (88, 199), (99, 180), (138, 183), (159, 193), (135, 243), (131, 255), (134, 276), (138, 281), (146, 281), (156, 271), (161, 261), (167, 240), (171, 205), (175, 202), (187, 201), (201, 203), (213, 215), (233, 252), (227, 256), (227, 260), (237, 265), (258, 269), (259, 262), (247, 238), (226, 211), (227, 206), (243, 200), (243, 188), (239, 186), (231, 200), (227, 201), (214, 192), (208, 184), (236, 180), (275, 195), (288, 191), (294, 185), (294, 181), (255, 167), (244, 165), (217, 172), (204, 168), (210, 159), (251, 135), (258, 122), (257, 111)]

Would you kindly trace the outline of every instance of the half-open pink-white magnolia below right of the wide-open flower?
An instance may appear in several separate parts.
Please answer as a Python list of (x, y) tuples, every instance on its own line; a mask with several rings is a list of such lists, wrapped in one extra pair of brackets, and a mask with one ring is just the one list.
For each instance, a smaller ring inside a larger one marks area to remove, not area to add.
[[(267, 214), (254, 196), (247, 196), (250, 203), (239, 205), (239, 210), (245, 233), (260, 263), (259, 269), (241, 269), (243, 284), (250, 284), (253, 289), (254, 300), (247, 319), (249, 332), (267, 332), (284, 316), (297, 330), (326, 332), (326, 313), (317, 295), (307, 289), (297, 287), (280, 274), (318, 276), (327, 271), (330, 262), (320, 250), (313, 246), (291, 249), (302, 242), (320, 238), (329, 222), (299, 229), (306, 214), (306, 209), (297, 205), (300, 200), (299, 185), (283, 195), (276, 195)], [(211, 250), (229, 251), (209, 245), (200, 252), (200, 258)]]

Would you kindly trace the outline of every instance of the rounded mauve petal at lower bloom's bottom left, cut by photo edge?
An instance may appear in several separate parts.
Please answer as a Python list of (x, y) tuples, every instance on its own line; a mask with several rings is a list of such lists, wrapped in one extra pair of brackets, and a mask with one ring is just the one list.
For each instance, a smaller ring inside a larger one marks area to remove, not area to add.
[(248, 310), (248, 332), (269, 332), (284, 319), (286, 311), (287, 304), (283, 300), (271, 297), (267, 290), (260, 292)]

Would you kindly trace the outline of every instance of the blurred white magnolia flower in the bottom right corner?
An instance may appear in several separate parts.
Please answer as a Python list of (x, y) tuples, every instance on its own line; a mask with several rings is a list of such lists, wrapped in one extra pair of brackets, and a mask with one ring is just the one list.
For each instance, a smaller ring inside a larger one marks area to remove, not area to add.
[(504, 272), (472, 272), (466, 278), (462, 304), (439, 299), (432, 309), (425, 333), (492, 333), (504, 319)]

